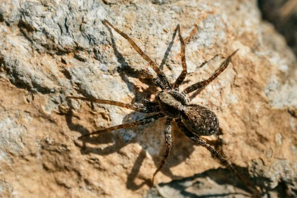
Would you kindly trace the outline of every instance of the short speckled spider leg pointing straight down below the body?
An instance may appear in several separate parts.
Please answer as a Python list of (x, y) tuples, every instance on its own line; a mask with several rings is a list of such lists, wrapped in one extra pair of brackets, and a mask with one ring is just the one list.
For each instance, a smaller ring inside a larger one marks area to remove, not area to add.
[(166, 150), (165, 150), (165, 154), (159, 164), (159, 167), (157, 168), (157, 170), (153, 173), (152, 176), (152, 182), (154, 180), (155, 175), (163, 168), (169, 153), (170, 153), (170, 149), (171, 149), (171, 121), (172, 118), (167, 117), (166, 118), (166, 122), (165, 122), (165, 141), (166, 141)]

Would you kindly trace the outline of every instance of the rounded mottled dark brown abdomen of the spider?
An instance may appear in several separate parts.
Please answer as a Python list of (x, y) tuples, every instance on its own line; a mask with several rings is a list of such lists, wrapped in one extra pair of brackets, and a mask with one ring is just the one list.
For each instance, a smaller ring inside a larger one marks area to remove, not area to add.
[(181, 117), (186, 127), (197, 136), (210, 136), (219, 129), (217, 116), (205, 106), (190, 104)]

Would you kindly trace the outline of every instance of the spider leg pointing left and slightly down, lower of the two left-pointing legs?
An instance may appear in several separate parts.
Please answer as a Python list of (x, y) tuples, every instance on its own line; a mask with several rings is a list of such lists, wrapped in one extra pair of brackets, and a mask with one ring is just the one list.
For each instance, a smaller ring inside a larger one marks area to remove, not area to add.
[(91, 135), (97, 135), (97, 134), (101, 134), (101, 133), (108, 133), (108, 132), (115, 131), (115, 130), (118, 130), (118, 129), (125, 129), (125, 128), (140, 126), (140, 125), (145, 125), (145, 124), (148, 124), (150, 122), (156, 121), (157, 119), (162, 118), (164, 116), (165, 115), (163, 113), (157, 113), (157, 114), (148, 116), (148, 117), (146, 117), (144, 119), (141, 119), (141, 120), (136, 120), (134, 122), (124, 123), (124, 124), (120, 124), (120, 125), (117, 125), (117, 126), (108, 127), (106, 129), (101, 129), (99, 131), (94, 131), (92, 133), (89, 133), (89, 134), (86, 134), (86, 135), (83, 135), (83, 136), (79, 137), (79, 139), (84, 138), (84, 137), (88, 137), (88, 136), (91, 136)]

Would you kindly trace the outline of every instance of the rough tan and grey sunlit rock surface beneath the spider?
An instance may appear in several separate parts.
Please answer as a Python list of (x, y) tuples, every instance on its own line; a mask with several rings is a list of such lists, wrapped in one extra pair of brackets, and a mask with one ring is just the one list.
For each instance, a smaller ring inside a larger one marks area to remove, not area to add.
[(158, 91), (148, 63), (102, 19), (130, 35), (171, 83), (182, 70), (180, 24), (183, 88), (240, 49), (220, 80), (189, 96), (218, 116), (219, 133), (205, 140), (271, 197), (297, 196), (296, 57), (255, 1), (1, 0), (0, 197), (248, 195), (175, 124), (168, 165), (155, 180), (163, 184), (149, 190), (165, 149), (164, 119), (77, 139), (146, 115), (66, 96), (141, 103)]

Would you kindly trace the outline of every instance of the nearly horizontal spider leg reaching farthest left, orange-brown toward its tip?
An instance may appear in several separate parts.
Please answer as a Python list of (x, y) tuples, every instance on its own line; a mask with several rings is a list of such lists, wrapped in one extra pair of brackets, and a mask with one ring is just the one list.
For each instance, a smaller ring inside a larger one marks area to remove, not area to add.
[(111, 105), (128, 108), (128, 109), (135, 110), (135, 111), (142, 112), (142, 113), (154, 113), (154, 112), (160, 111), (160, 108), (158, 106), (143, 106), (143, 105), (139, 105), (139, 104), (126, 104), (123, 102), (105, 100), (105, 99), (90, 99), (90, 98), (73, 97), (73, 96), (68, 96), (68, 97), (66, 97), (66, 99), (81, 99), (81, 100), (97, 102), (97, 103), (101, 103), (101, 104), (111, 104)]

